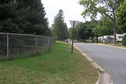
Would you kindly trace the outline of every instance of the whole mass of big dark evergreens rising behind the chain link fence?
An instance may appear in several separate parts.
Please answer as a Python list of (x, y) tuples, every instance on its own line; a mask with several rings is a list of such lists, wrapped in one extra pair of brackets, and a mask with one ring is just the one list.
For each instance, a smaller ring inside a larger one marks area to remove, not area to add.
[(0, 2), (0, 32), (50, 35), (41, 0)]

